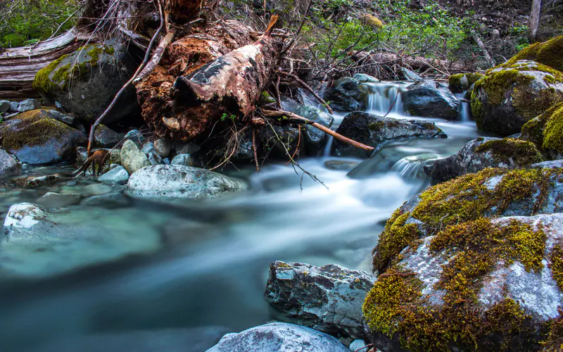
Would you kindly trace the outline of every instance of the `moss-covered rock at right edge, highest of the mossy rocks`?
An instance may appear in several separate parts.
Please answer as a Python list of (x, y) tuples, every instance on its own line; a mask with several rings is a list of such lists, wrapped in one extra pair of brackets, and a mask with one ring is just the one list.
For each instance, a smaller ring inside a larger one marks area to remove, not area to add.
[(522, 49), (506, 63), (512, 65), (520, 60), (532, 60), (563, 71), (563, 35), (543, 43), (536, 43)]

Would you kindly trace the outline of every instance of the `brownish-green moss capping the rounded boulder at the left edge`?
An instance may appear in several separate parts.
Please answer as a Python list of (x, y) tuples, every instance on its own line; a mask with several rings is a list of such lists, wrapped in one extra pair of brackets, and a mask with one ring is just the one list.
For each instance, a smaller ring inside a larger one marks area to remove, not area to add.
[(49, 113), (42, 109), (20, 113), (13, 120), (18, 120), (15, 124), (16, 130), (11, 128), (12, 125), (0, 126), (1, 144), (8, 150), (20, 149), (25, 145), (44, 144), (49, 139), (58, 139), (71, 130), (63, 122), (51, 118)]

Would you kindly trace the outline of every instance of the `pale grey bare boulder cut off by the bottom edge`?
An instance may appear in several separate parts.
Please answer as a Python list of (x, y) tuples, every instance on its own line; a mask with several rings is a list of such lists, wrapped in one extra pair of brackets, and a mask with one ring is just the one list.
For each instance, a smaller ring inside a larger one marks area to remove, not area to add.
[(271, 322), (226, 334), (207, 352), (350, 352), (339, 340), (309, 327)]

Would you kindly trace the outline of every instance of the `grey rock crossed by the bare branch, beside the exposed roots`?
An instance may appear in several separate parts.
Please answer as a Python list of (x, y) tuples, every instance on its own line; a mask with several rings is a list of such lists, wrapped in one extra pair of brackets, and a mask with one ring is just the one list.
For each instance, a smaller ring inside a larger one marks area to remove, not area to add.
[[(284, 97), (284, 99), (281, 99), (281, 108), (285, 111), (300, 115), (303, 118), (308, 118), (312, 122), (320, 123), (320, 125), (327, 128), (330, 128), (332, 122), (334, 122), (334, 118), (331, 115), (313, 106), (303, 105), (290, 98)], [(305, 153), (308, 156), (317, 156), (319, 153), (322, 153), (325, 144), (327, 144), (328, 135), (310, 125), (305, 125), (305, 129), (302, 133), (305, 142)]]

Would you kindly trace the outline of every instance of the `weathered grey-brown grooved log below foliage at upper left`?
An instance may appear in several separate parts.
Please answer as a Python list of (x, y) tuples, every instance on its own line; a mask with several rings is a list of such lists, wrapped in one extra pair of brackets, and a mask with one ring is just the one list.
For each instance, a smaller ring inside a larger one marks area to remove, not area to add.
[(70, 30), (39, 44), (0, 51), (0, 98), (39, 96), (32, 88), (35, 74), (57, 58), (75, 51), (86, 39), (86, 35)]

